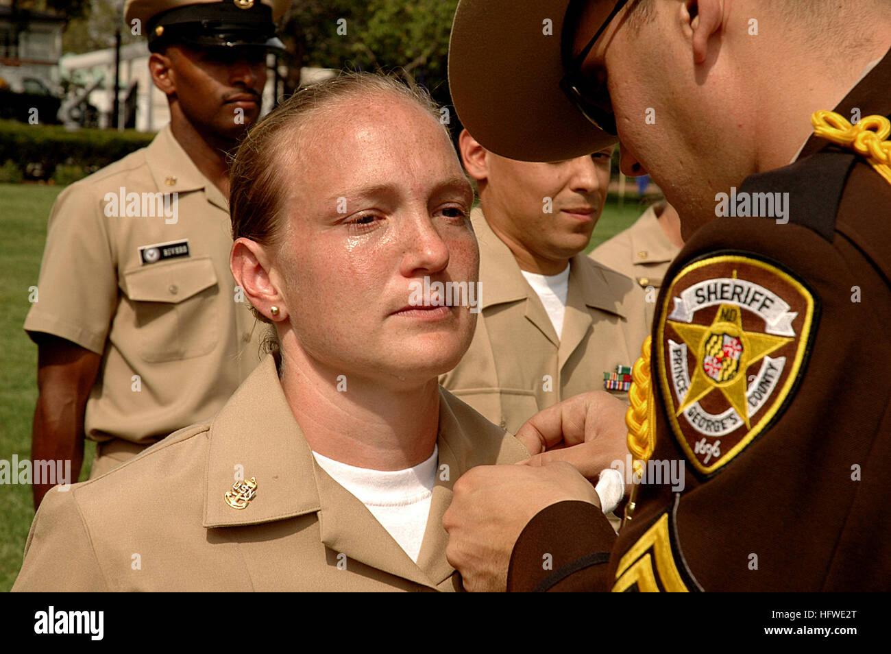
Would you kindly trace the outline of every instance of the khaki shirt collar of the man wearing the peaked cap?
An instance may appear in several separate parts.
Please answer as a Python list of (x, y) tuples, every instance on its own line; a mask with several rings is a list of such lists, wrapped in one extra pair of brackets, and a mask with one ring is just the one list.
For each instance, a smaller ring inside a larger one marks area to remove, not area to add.
[(229, 204), (223, 193), (195, 166), (195, 162), (176, 140), (170, 125), (166, 125), (145, 149), (145, 162), (161, 192), (191, 192), (204, 190), (208, 202), (224, 211)]

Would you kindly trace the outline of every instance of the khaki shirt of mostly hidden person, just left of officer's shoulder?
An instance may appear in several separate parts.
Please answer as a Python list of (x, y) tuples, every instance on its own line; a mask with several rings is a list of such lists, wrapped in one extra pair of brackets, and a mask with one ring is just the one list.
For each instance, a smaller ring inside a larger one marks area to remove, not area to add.
[(651, 206), (634, 221), (634, 225), (594, 248), (590, 257), (626, 277), (631, 277), (642, 290), (646, 291), (650, 286), (654, 289), (650, 292), (650, 301), (647, 301), (647, 294), (644, 292), (649, 328), (653, 322), (656, 295), (662, 286), (662, 278), (665, 277), (672, 259), (680, 251), (662, 231), (656, 208)]

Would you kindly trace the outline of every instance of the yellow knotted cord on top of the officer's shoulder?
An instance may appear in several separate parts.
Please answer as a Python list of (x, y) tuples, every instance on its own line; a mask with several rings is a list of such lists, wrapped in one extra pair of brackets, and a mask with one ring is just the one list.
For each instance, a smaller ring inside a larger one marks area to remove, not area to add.
[(851, 125), (835, 111), (819, 110), (811, 116), (813, 134), (853, 150), (869, 161), (872, 168), (891, 184), (891, 121), (884, 116), (867, 116)]

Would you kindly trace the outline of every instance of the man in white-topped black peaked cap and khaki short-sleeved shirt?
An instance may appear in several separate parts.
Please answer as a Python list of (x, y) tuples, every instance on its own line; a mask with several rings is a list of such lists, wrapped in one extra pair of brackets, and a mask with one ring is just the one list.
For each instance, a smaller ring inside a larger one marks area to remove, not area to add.
[(259, 116), (286, 4), (127, 3), (171, 122), (53, 207), (25, 321), (39, 347), (32, 459), (69, 459), (76, 480), (86, 436), (96, 477), (216, 413), (257, 365), (260, 330), (229, 271), (226, 151)]

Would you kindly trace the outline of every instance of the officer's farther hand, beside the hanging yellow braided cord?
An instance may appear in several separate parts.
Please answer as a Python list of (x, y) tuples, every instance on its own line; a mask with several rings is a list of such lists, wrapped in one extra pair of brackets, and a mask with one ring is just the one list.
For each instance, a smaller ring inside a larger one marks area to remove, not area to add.
[(614, 461), (628, 454), (625, 405), (604, 390), (572, 396), (535, 413), (517, 432), (533, 454), (524, 465), (571, 463), (586, 478), (594, 479)]

